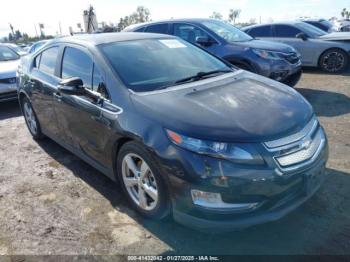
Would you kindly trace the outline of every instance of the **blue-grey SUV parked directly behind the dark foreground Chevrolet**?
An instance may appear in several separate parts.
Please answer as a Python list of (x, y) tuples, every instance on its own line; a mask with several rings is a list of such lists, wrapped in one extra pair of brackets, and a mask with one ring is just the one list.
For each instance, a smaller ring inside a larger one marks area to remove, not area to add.
[(291, 46), (255, 40), (231, 24), (214, 19), (178, 19), (133, 25), (129, 32), (181, 37), (242, 69), (295, 86), (301, 77), (299, 53)]

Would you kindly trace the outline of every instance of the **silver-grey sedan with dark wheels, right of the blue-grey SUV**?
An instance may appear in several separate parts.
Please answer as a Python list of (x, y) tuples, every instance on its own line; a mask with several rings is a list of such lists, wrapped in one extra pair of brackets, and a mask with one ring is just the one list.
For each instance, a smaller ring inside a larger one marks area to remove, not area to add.
[(349, 65), (350, 34), (325, 31), (304, 22), (262, 24), (243, 29), (252, 37), (285, 43), (301, 53), (303, 66), (338, 73)]

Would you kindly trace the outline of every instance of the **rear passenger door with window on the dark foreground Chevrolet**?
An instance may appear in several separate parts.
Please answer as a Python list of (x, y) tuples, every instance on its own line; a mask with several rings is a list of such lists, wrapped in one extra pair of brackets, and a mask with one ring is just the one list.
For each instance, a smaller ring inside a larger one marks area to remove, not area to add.
[(56, 100), (54, 95), (58, 78), (58, 46), (51, 46), (38, 54), (31, 66), (27, 80), (31, 90), (31, 102), (39, 119), (41, 129), (49, 136), (58, 137), (60, 129), (55, 114)]

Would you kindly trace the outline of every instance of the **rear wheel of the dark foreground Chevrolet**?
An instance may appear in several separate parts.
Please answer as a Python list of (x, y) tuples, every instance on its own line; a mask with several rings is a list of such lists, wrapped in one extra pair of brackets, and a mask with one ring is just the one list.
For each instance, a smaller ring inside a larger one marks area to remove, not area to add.
[(26, 121), (26, 125), (32, 137), (36, 140), (44, 138), (44, 135), (41, 132), (39, 120), (34, 112), (32, 104), (27, 97), (23, 97), (21, 99), (21, 108), (24, 119)]

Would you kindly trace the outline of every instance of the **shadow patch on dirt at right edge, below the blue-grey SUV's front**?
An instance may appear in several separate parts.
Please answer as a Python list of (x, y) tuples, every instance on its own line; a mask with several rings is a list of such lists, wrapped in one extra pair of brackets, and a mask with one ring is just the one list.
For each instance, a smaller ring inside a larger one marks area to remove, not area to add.
[(350, 113), (350, 98), (344, 94), (307, 88), (296, 90), (311, 103), (318, 116), (333, 117)]

